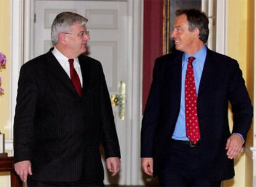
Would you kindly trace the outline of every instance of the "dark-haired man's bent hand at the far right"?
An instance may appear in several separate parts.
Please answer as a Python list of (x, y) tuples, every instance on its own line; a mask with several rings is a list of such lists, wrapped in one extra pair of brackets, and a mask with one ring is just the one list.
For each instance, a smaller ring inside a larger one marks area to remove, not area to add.
[(227, 156), (229, 159), (234, 159), (237, 154), (240, 153), (243, 145), (243, 139), (241, 136), (237, 135), (236, 133), (233, 133), (227, 140), (226, 148)]

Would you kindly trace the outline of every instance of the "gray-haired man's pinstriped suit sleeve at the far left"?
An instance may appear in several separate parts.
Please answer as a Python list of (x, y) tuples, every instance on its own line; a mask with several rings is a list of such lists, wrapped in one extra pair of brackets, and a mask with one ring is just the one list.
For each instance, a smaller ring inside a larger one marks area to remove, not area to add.
[(35, 74), (27, 64), (20, 69), (14, 117), (14, 162), (31, 160), (33, 124), (38, 89)]

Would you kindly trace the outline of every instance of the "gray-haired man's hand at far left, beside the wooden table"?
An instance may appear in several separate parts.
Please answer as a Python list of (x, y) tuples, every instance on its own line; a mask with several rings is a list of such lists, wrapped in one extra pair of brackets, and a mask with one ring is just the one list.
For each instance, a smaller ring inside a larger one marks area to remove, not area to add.
[(20, 176), (23, 182), (27, 181), (27, 176), (32, 175), (32, 168), (30, 161), (21, 161), (14, 164), (15, 172)]

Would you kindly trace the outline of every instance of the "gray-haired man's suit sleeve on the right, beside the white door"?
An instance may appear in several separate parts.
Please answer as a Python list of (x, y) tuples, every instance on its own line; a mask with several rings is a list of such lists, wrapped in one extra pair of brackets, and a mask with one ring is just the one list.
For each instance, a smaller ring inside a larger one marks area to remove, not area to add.
[(103, 68), (100, 66), (101, 76), (101, 90), (100, 90), (100, 101), (101, 101), (101, 123), (102, 123), (102, 135), (101, 143), (105, 150), (105, 156), (108, 157), (121, 157), (119, 141), (116, 133), (116, 126), (114, 124), (114, 116), (109, 98), (108, 87), (106, 84), (105, 75)]

